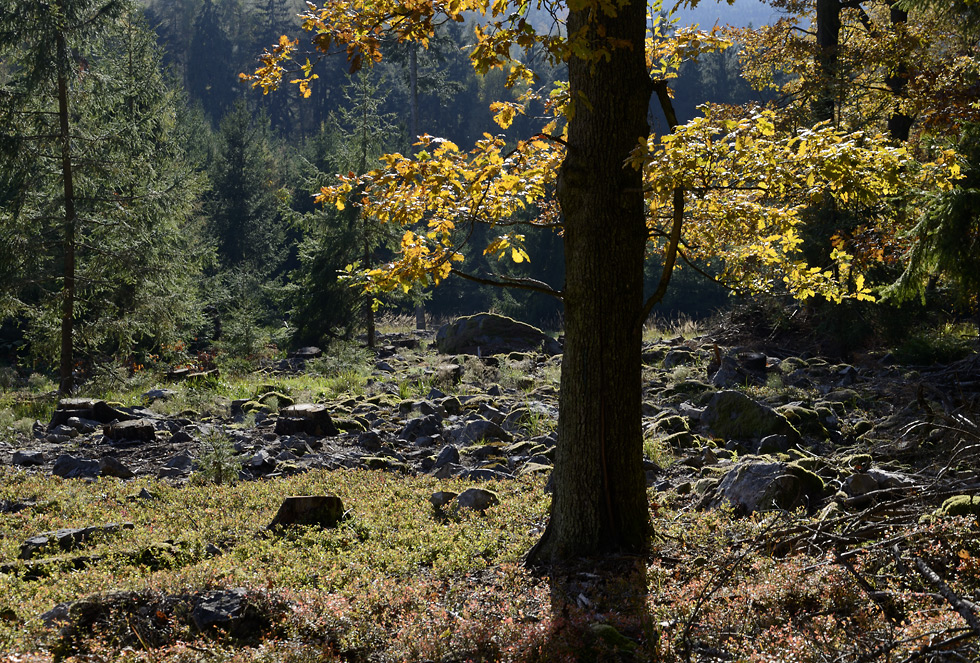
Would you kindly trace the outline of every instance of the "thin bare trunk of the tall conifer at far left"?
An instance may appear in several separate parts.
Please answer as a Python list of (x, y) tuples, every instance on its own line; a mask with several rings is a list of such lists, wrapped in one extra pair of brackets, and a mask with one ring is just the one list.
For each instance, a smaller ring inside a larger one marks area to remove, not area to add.
[(57, 36), (58, 57), (58, 119), (61, 124), (61, 176), (65, 194), (63, 226), (64, 273), (61, 304), (61, 364), (58, 391), (69, 393), (74, 387), (74, 324), (75, 324), (75, 187), (72, 180), (71, 133), (68, 123), (68, 46), (65, 37)]

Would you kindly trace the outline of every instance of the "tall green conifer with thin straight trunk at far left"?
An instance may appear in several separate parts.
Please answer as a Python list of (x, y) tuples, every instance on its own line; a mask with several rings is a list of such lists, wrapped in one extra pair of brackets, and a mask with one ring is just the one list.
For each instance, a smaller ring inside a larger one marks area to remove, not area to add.
[[(165, 251), (182, 246), (194, 186), (179, 166), (175, 98), (131, 4), (3, 10), (5, 312), (30, 320), (35, 353), (60, 354), (64, 393), (80, 343), (89, 355), (123, 351), (182, 310), (186, 289), (174, 286), (187, 265)], [(157, 319), (129, 324), (137, 311)]]

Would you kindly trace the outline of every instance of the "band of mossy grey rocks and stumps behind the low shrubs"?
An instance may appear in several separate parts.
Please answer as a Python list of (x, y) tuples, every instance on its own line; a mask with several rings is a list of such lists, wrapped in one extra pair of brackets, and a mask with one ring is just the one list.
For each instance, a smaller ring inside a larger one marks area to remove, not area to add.
[[(438, 338), (383, 335), (364, 393), (331, 402), (296, 403), (277, 386), (316, 349), (270, 364), (253, 398), (207, 418), (154, 404), (208, 376), (150, 390), (143, 407), (66, 399), (30, 438), (0, 445), (0, 462), (65, 478), (176, 483), (229, 462), (241, 479), (340, 467), (473, 481), (547, 474), (560, 345), (528, 329), (486, 317)], [(887, 354), (835, 363), (706, 333), (648, 341), (643, 360), (644, 468), (658, 491), (750, 512), (854, 509), (937, 482), (976, 488), (975, 354), (936, 367)], [(411, 390), (400, 377), (409, 374)], [(214, 448), (224, 436), (234, 447), (226, 458)]]

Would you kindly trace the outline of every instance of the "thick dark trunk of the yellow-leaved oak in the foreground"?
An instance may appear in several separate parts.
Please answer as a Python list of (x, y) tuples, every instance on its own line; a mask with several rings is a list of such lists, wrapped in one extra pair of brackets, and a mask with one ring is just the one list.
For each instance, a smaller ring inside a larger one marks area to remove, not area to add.
[[(576, 106), (558, 181), (566, 273), (558, 448), (551, 520), (530, 563), (648, 545), (640, 428), (646, 226), (641, 175), (624, 165), (649, 132), (645, 14), (646, 3), (634, 0), (589, 25), (633, 48), (616, 48), (608, 61), (569, 61)], [(570, 11), (568, 32), (588, 21), (587, 12)]]

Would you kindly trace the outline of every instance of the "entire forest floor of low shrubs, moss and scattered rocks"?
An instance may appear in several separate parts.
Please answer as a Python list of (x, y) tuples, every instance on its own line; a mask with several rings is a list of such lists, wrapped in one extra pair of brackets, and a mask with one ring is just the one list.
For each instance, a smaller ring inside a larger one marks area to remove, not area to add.
[[(975, 333), (941, 363), (844, 362), (749, 327), (645, 334), (650, 553), (535, 571), (560, 355), (440, 356), (389, 326), (248, 372), (104, 372), (86, 411), (133, 437), (11, 372), (0, 657), (980, 660)], [(269, 527), (293, 495), (342, 517)]]

